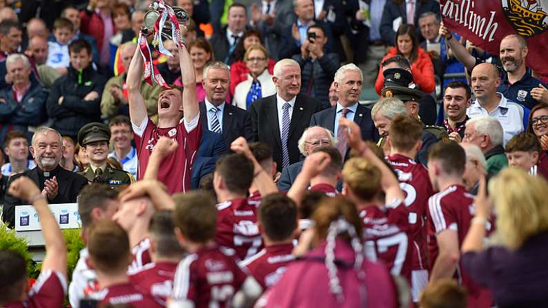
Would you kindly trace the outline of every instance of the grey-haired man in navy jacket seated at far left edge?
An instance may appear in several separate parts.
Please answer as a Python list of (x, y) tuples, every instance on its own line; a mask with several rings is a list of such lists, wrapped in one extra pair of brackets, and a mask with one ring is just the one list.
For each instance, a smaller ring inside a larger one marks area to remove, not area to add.
[(0, 140), (10, 130), (20, 130), (32, 137), (32, 130), (45, 121), (45, 101), (48, 93), (30, 79), (32, 68), (23, 54), (10, 54), (6, 59), (11, 88), (0, 90)]

